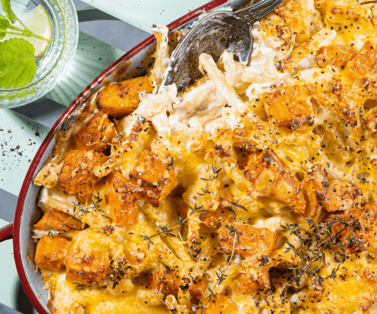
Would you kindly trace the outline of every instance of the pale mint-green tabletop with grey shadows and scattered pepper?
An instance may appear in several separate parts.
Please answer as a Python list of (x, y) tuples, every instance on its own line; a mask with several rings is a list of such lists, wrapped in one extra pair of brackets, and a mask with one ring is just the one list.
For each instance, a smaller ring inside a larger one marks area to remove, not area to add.
[[(176, 0), (74, 0), (81, 21), (79, 43), (65, 78), (37, 101), (0, 109), (0, 228), (13, 221), (30, 161), (66, 106), (108, 65), (150, 36), (152, 24), (168, 24), (208, 2), (192, 0), (178, 6)], [(0, 254), (0, 303), (32, 313), (17, 275), (12, 240), (0, 243)], [(10, 314), (0, 306), (3, 313)]]

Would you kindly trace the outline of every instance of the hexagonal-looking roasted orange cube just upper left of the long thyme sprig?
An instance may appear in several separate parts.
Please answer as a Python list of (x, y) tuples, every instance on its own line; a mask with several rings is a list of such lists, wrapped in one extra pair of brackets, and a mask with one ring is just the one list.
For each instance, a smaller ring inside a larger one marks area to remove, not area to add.
[(130, 181), (141, 190), (141, 197), (157, 207), (175, 184), (174, 159), (170, 154), (157, 156), (145, 150), (130, 172)]

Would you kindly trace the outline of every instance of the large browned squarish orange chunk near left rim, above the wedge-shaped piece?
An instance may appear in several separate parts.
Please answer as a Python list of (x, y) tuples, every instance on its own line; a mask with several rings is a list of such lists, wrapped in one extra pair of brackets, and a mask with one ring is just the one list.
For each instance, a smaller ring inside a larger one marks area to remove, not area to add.
[(93, 186), (101, 180), (93, 173), (93, 168), (106, 160), (105, 155), (95, 150), (70, 150), (59, 173), (60, 190), (68, 195), (77, 194), (84, 201), (91, 195)]

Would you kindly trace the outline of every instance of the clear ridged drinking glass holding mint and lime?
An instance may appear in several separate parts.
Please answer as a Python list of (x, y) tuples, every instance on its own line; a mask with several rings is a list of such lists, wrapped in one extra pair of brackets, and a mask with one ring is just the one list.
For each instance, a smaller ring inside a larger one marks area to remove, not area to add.
[(72, 0), (11, 1), (12, 10), (20, 16), (42, 5), (51, 21), (51, 40), (44, 58), (36, 59), (37, 73), (21, 87), (0, 87), (0, 108), (27, 104), (49, 92), (62, 79), (76, 52), (78, 20)]

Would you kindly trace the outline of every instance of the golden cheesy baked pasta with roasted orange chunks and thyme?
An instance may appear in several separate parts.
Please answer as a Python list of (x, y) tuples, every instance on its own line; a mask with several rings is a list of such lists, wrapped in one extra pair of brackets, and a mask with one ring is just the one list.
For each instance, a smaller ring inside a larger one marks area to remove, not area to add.
[(51, 314), (375, 313), (377, 4), (287, 0), (243, 65), (152, 31), (56, 134), (31, 236)]

